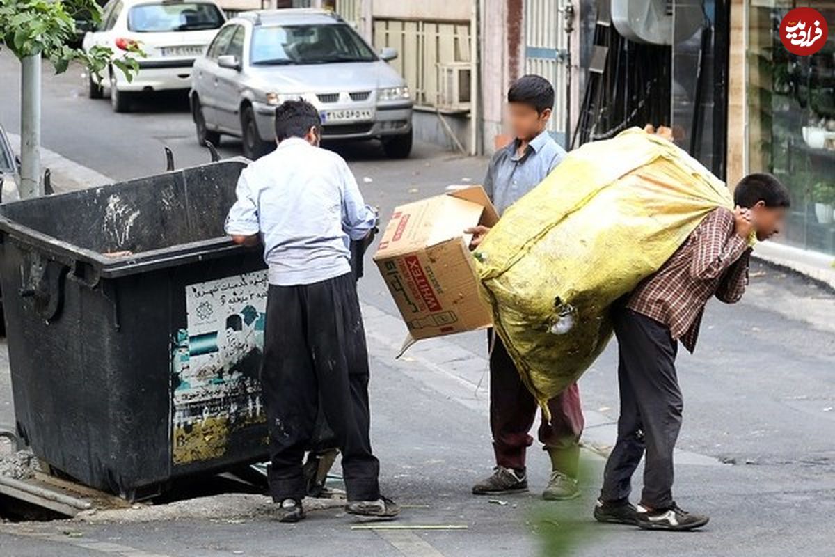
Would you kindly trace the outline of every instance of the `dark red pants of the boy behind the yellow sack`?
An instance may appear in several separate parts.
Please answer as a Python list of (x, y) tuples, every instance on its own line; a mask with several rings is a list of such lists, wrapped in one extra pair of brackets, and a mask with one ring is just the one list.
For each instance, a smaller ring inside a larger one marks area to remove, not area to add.
[[(493, 332), (489, 332), (493, 337)], [(577, 477), (579, 437), (585, 424), (577, 383), (549, 400), (551, 420), (540, 418), (539, 441), (551, 456), (554, 469)], [(534, 395), (524, 386), (513, 360), (498, 335), (490, 354), (490, 428), (496, 463), (525, 468), (525, 453), (534, 443), (529, 434), (539, 411)]]

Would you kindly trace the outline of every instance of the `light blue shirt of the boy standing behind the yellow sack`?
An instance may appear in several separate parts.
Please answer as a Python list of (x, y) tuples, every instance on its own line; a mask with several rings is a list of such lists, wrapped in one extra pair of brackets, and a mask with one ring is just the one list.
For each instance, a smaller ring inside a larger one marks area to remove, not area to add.
[(499, 215), (539, 185), (566, 155), (565, 149), (554, 141), (547, 129), (531, 139), (522, 156), (517, 154), (518, 149), (519, 139), (498, 149), (484, 179), (484, 191)]

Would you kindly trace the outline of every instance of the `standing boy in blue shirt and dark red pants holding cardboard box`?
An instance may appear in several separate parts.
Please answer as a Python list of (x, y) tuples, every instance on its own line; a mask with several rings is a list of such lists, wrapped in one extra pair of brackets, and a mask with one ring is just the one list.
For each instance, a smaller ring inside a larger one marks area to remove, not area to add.
[[(484, 190), (504, 213), (516, 200), (533, 190), (564, 159), (565, 151), (551, 138), (548, 119), (554, 106), (554, 88), (538, 75), (519, 78), (508, 91), (510, 124), (516, 139), (499, 149), (490, 161)], [(473, 234), (472, 247), (488, 232), (484, 226), (467, 230)], [(529, 435), (538, 410), (534, 396), (519, 378), (513, 360), (501, 339), (489, 333), (490, 428), (496, 467), (493, 475), (473, 487), (473, 494), (508, 494), (528, 489), (525, 453), (534, 443)], [(544, 499), (573, 499), (579, 495), (577, 468), (579, 437), (584, 418), (579, 389), (571, 385), (548, 403), (551, 421), (544, 417), (539, 441), (551, 458), (552, 473)]]

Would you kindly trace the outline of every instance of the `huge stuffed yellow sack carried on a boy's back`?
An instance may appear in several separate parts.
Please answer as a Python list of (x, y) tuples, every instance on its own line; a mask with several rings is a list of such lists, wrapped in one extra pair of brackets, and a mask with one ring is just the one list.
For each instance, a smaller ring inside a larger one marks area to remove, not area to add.
[(608, 308), (672, 256), (726, 185), (665, 139), (628, 129), (574, 150), (475, 252), (493, 324), (543, 405), (609, 342)]

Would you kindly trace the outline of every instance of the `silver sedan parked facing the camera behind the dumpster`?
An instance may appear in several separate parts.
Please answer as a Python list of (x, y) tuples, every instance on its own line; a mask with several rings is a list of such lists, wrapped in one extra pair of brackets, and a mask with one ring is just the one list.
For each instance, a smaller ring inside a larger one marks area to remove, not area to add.
[(242, 13), (220, 28), (192, 72), (200, 144), (242, 138), (256, 158), (275, 146), (273, 114), (287, 99), (319, 109), (324, 139), (380, 139), (391, 157), (412, 149), (412, 99), (388, 65), (337, 15), (283, 9)]

